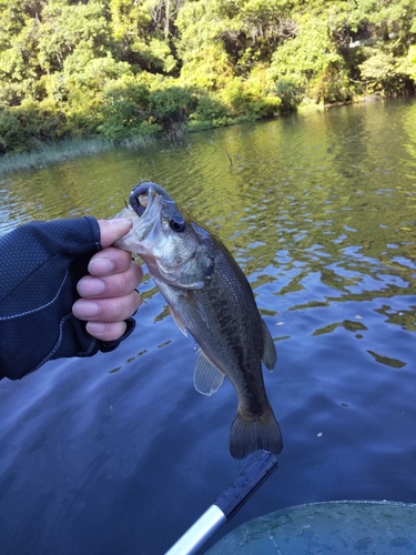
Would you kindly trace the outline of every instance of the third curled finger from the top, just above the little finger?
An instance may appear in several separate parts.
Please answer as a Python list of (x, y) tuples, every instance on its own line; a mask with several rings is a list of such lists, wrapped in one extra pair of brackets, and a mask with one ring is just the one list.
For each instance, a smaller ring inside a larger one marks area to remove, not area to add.
[(118, 299), (79, 299), (72, 305), (72, 313), (90, 322), (121, 322), (134, 314), (140, 304), (139, 293), (132, 291)]

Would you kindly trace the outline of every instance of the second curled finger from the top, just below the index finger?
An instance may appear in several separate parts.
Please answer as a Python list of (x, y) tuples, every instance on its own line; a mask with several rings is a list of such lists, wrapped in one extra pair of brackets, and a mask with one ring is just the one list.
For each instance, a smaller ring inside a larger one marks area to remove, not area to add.
[(123, 296), (135, 290), (143, 279), (142, 268), (130, 261), (126, 272), (95, 278), (85, 275), (77, 284), (79, 294), (84, 299), (111, 299)]

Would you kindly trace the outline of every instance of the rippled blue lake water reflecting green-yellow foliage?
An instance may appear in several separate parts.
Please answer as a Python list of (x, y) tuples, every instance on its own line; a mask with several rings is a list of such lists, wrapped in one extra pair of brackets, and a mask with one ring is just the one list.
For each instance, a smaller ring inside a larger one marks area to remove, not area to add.
[[(142, 178), (222, 238), (277, 347), (265, 383), (280, 466), (215, 539), (303, 503), (415, 503), (415, 100), (11, 174), (0, 234), (111, 216)], [(0, 382), (0, 553), (162, 554), (246, 464), (229, 453), (230, 382), (194, 391), (193, 341), (149, 275), (140, 290), (136, 330), (114, 352)]]

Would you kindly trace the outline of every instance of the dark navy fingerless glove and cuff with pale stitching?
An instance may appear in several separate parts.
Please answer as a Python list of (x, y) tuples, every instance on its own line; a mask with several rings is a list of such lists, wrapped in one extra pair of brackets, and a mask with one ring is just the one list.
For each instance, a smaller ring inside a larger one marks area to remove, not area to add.
[(94, 218), (30, 222), (0, 238), (0, 379), (18, 380), (47, 361), (112, 351), (72, 314), (77, 283), (101, 249)]

